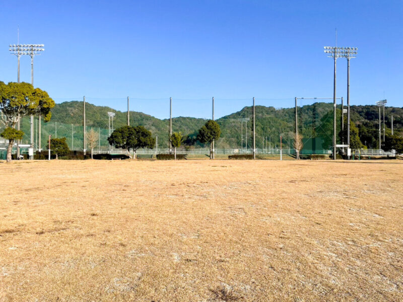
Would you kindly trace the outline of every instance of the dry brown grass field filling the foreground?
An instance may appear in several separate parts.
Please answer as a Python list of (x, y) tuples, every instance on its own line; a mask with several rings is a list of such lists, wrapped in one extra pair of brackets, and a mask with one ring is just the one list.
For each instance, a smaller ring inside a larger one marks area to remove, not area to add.
[(0, 301), (402, 301), (402, 161), (0, 163)]

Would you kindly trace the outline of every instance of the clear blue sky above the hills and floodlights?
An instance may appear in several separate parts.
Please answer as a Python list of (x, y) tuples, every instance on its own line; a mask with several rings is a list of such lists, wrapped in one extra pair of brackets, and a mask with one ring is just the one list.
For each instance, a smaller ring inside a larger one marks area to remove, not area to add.
[[(174, 116), (209, 117), (213, 96), (217, 116), (252, 97), (275, 107), (332, 97), (323, 46), (337, 28), (338, 46), (359, 48), (351, 104), (403, 106), (402, 1), (3, 1), (0, 16), (0, 81), (17, 81), (8, 45), (19, 26), (20, 43), (45, 44), (34, 84), (56, 102), (85, 95), (125, 110), (129, 96), (131, 109), (167, 117), (172, 97)], [(28, 56), (21, 81), (30, 82)], [(346, 59), (337, 93), (347, 97)]]

